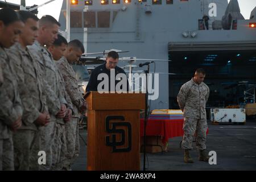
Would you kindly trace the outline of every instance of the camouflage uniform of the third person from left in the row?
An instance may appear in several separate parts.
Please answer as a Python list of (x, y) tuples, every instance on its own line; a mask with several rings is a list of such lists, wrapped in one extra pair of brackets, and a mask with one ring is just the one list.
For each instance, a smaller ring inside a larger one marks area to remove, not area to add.
[(40, 130), (40, 145), (42, 150), (46, 152), (46, 165), (40, 166), (40, 169), (50, 170), (52, 169), (52, 164), (55, 162), (54, 156), (57, 153), (56, 147), (54, 146), (57, 132), (55, 115), (60, 110), (60, 104), (67, 105), (67, 101), (65, 101), (65, 98), (61, 93), (60, 77), (51, 53), (49, 53), (45, 47), (41, 46), (38, 41), (35, 41), (35, 43), (32, 46), (28, 46), (28, 48), (38, 61), (40, 69), (43, 70), (44, 78), (46, 78), (46, 81), (48, 82), (49, 86), (51, 86), (53, 92), (56, 94), (56, 97), (59, 98), (59, 100), (56, 100), (56, 106), (59, 107), (48, 107), (49, 114), (51, 115), (51, 122), (49, 122), (46, 127), (42, 127)]

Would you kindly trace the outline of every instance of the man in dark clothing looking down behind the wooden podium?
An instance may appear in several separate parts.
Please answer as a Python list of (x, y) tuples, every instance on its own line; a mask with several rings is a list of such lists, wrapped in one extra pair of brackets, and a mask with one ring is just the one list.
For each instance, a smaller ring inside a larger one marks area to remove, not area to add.
[(115, 93), (129, 91), (129, 84), (125, 71), (118, 67), (119, 55), (110, 51), (106, 57), (106, 63), (93, 69), (86, 92), (98, 91), (104, 93)]

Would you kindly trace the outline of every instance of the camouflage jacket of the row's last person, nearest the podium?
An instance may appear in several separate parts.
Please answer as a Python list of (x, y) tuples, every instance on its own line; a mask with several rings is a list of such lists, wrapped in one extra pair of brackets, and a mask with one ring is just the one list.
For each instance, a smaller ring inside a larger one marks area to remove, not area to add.
[(59, 68), (64, 78), (65, 88), (73, 103), (73, 114), (75, 117), (79, 117), (79, 109), (83, 105), (85, 100), (82, 97), (82, 93), (79, 89), (79, 85), (75, 76), (75, 71), (65, 57), (62, 57), (59, 61), (57, 61), (57, 67)]

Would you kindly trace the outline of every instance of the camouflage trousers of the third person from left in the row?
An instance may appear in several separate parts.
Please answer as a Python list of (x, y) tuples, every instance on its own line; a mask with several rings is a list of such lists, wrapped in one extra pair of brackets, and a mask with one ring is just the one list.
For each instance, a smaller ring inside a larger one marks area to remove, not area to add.
[(51, 170), (53, 164), (53, 154), (56, 151), (54, 145), (56, 136), (56, 122), (51, 121), (47, 126), (40, 127), (40, 151), (46, 152), (46, 164), (39, 166), (39, 170)]

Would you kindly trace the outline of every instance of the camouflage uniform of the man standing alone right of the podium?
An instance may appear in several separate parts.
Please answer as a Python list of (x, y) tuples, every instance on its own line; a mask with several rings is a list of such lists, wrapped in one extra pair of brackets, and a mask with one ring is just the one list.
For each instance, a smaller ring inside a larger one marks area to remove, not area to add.
[(177, 102), (184, 115), (183, 148), (193, 149), (192, 140), (196, 133), (196, 146), (199, 150), (206, 148), (207, 116), (205, 104), (209, 97), (209, 87), (201, 82), (200, 85), (193, 81), (181, 86), (177, 95)]

